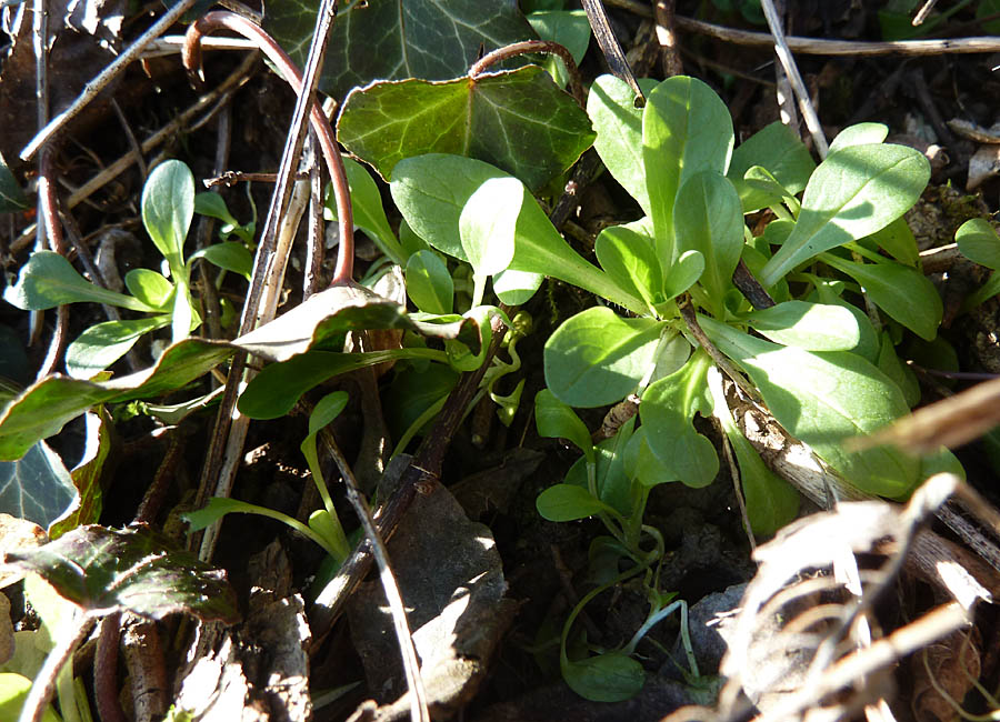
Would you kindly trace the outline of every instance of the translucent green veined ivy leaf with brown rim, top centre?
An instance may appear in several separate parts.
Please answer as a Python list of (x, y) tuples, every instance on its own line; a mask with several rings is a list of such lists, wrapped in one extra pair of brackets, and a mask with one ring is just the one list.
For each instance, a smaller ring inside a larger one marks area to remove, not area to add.
[(529, 66), (476, 79), (358, 88), (344, 101), (337, 138), (384, 179), (403, 158), (453, 153), (502, 168), (538, 190), (572, 166), (594, 134), (576, 100)]

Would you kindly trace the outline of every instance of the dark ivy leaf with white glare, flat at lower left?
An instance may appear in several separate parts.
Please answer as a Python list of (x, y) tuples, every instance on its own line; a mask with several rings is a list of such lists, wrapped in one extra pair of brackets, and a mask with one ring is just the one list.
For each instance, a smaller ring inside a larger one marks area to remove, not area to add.
[(8, 552), (3, 561), (41, 575), (90, 615), (128, 611), (162, 620), (186, 612), (202, 621), (239, 620), (224, 572), (147, 527), (80, 527), (43, 546)]

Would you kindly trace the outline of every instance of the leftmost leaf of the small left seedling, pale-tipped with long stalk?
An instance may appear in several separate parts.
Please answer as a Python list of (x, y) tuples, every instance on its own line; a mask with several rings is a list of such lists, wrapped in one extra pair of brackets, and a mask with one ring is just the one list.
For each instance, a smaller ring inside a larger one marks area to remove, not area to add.
[(62, 255), (36, 251), (21, 267), (14, 285), (7, 287), (3, 299), (24, 311), (44, 311), (63, 303), (107, 303), (130, 311), (156, 311), (130, 295), (117, 293), (84, 280)]

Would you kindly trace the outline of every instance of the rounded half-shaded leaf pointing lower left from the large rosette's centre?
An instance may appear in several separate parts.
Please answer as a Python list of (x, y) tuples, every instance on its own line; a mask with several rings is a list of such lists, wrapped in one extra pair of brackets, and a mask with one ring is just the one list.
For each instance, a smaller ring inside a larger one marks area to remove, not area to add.
[(656, 361), (661, 324), (623, 319), (606, 307), (578, 313), (546, 342), (546, 385), (571, 407), (621, 401)]

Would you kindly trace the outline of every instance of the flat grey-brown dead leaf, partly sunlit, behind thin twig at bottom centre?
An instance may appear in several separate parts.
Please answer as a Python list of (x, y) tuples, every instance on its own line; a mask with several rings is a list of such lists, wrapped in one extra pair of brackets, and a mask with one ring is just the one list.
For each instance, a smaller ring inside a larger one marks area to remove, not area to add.
[[(489, 529), (469, 521), (443, 487), (418, 497), (388, 544), (421, 660), (428, 705), (450, 716), (476, 693), (516, 604)], [(400, 653), (382, 586), (369, 582), (348, 609), (368, 689), (384, 702), (379, 718), (406, 715)], [(402, 696), (399, 696), (402, 694)], [(398, 699), (397, 699), (398, 698)]]

